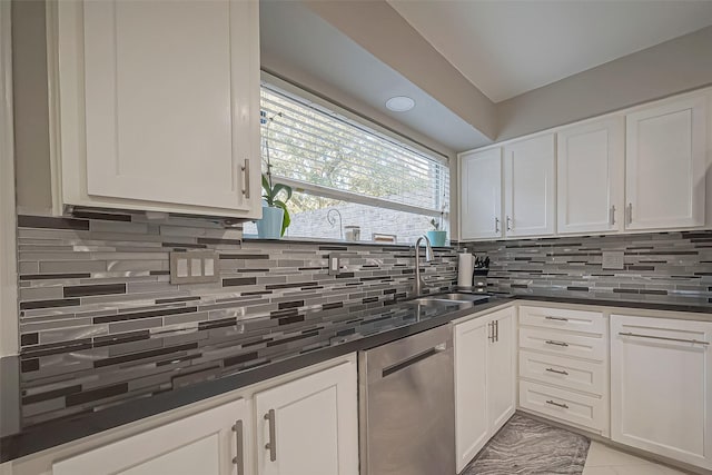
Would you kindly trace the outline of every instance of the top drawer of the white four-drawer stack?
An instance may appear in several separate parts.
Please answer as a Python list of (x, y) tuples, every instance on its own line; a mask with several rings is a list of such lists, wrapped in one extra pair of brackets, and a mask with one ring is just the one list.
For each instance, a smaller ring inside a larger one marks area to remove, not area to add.
[(520, 325), (557, 328), (596, 335), (605, 334), (605, 320), (600, 311), (567, 310), (563, 308), (520, 307)]

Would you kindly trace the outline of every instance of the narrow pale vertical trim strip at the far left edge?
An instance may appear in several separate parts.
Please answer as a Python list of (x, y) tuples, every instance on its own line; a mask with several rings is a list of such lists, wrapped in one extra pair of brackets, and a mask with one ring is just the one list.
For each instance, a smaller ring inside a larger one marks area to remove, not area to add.
[(18, 353), (11, 6), (0, 1), (0, 356)]

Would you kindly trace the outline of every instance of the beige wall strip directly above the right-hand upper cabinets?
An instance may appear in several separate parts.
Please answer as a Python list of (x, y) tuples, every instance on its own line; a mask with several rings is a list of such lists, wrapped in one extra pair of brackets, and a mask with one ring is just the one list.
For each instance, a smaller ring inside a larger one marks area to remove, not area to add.
[(496, 141), (712, 85), (712, 27), (497, 103)]

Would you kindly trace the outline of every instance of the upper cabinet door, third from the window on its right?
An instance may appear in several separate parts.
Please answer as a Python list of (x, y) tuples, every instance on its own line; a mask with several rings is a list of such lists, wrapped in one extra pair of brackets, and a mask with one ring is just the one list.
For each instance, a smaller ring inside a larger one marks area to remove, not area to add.
[(623, 131), (621, 116), (557, 132), (558, 232), (623, 229)]

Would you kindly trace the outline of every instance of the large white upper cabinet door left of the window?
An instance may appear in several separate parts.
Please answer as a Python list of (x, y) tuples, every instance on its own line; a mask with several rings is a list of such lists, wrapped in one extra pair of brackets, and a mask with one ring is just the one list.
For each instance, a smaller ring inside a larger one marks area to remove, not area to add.
[(257, 90), (246, 61), (256, 41), (247, 34), (250, 8), (83, 3), (89, 195), (248, 208), (241, 167), (253, 155)]

